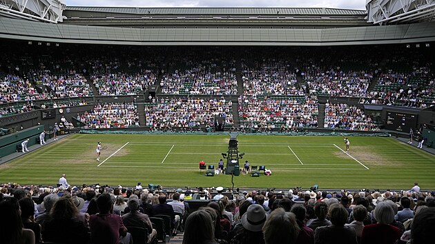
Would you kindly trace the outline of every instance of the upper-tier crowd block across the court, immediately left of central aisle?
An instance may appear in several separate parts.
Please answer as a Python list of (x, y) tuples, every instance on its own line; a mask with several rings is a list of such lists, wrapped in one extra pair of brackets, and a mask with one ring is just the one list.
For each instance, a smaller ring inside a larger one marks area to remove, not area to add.
[(175, 66), (174, 72), (160, 81), (162, 94), (237, 94), (235, 60), (223, 65), (217, 58), (195, 61), (184, 57)]

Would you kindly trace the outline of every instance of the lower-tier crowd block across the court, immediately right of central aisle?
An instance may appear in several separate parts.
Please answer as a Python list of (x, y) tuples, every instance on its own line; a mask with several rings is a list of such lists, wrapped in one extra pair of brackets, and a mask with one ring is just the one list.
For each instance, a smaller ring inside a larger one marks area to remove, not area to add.
[(316, 96), (269, 98), (240, 96), (239, 116), (244, 128), (317, 127)]

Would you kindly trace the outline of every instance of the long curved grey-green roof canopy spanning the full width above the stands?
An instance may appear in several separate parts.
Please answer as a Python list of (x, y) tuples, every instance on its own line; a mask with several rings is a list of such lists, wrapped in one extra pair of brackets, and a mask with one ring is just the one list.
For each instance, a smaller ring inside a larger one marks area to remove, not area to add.
[(435, 22), (352, 28), (120, 28), (0, 17), (0, 38), (119, 45), (370, 45), (435, 41)]

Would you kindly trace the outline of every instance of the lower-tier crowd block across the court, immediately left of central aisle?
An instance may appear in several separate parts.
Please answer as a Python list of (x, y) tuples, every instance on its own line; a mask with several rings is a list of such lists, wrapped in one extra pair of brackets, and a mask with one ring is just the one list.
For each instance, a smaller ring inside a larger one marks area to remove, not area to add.
[(233, 123), (231, 101), (220, 99), (160, 99), (145, 106), (146, 126), (153, 128), (215, 126), (215, 116)]

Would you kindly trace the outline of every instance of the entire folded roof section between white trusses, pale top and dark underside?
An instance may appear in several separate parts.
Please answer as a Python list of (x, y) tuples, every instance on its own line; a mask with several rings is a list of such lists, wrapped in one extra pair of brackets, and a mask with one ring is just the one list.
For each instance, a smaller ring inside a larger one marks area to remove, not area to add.
[(66, 7), (64, 24), (83, 26), (370, 26), (365, 10), (337, 8)]

